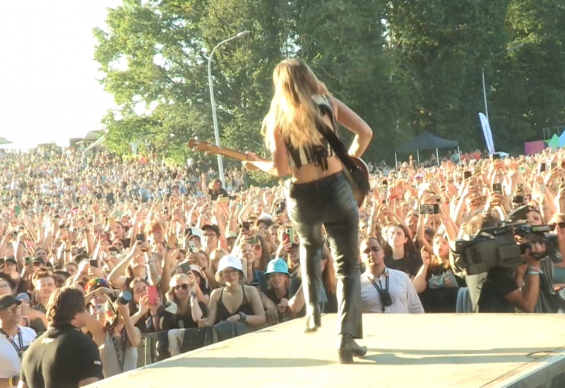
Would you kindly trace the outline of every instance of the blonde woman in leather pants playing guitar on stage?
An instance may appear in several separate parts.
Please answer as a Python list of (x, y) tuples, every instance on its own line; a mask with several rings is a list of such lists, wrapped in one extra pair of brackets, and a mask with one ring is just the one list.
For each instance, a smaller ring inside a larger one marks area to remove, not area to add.
[[(360, 157), (371, 140), (371, 128), (343, 102), (335, 99), (309, 66), (287, 59), (273, 73), (275, 95), (263, 120), (266, 145), (271, 161), (248, 154), (243, 162), (249, 169), (261, 169), (274, 176), (292, 174), (287, 190), (288, 215), (300, 236), (300, 262), (304, 297), (307, 303), (306, 332), (321, 325), (322, 226), (335, 258), (338, 283), (340, 363), (352, 363), (353, 356), (364, 356), (367, 347), (354, 339), (362, 338), (361, 290), (357, 233), (359, 213), (352, 189), (345, 180), (343, 166), (319, 128), (332, 119), (355, 133), (349, 154)], [(333, 115), (333, 117), (332, 117)]]

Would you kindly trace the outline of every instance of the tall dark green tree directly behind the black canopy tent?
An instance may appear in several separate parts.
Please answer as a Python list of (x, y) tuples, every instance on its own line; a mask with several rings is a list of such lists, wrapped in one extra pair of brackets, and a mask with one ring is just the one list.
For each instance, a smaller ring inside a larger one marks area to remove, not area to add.
[[(481, 70), (508, 40), (508, 0), (392, 1), (391, 44), (403, 52), (417, 99), (408, 126), (482, 147)], [(463, 141), (464, 140), (464, 141)]]

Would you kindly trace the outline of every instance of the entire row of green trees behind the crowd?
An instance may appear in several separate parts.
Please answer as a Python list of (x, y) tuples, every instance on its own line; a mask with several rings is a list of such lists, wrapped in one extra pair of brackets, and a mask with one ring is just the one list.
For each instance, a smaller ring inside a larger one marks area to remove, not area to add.
[(564, 16), (558, 0), (124, 0), (93, 30), (117, 104), (107, 144), (180, 161), (189, 138), (213, 140), (208, 56), (249, 30), (214, 54), (222, 145), (265, 151), (273, 68), (297, 56), (374, 129), (369, 160), (424, 129), (483, 147), (483, 69), (495, 145), (519, 151), (565, 123)]

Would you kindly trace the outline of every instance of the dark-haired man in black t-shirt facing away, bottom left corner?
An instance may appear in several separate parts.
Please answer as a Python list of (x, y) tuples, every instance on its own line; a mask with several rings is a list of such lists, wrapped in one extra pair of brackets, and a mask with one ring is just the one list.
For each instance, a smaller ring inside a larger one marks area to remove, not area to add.
[(47, 304), (49, 329), (23, 355), (18, 388), (76, 388), (101, 380), (102, 362), (85, 326), (84, 296), (74, 287), (57, 289)]

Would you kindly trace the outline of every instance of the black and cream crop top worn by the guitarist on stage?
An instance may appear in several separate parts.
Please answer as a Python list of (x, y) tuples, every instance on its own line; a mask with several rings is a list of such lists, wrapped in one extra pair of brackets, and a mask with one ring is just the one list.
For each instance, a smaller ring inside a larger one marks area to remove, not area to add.
[[(328, 114), (333, 121), (333, 109), (328, 97), (314, 95), (312, 96), (312, 99), (317, 105), (320, 114), (322, 116)], [(319, 125), (323, 125), (323, 123), (320, 123)], [(335, 128), (333, 130), (335, 131)], [(322, 170), (327, 170), (328, 157), (333, 157), (333, 150), (328, 144), (328, 140), (326, 140), (326, 138), (321, 138), (320, 141), (321, 144), (303, 145), (296, 148), (290, 143), (290, 140), (287, 141), (286, 147), (292, 166), (299, 169), (304, 166), (304, 164), (314, 163), (314, 166), (320, 167)]]

